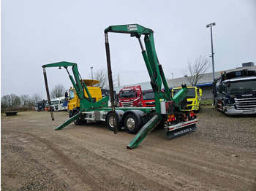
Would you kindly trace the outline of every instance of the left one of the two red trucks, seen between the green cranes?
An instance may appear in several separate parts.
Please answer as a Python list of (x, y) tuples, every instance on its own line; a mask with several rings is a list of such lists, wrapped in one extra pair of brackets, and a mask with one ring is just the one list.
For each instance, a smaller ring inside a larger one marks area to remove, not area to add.
[(121, 107), (142, 106), (143, 94), (140, 85), (123, 87), (118, 93)]

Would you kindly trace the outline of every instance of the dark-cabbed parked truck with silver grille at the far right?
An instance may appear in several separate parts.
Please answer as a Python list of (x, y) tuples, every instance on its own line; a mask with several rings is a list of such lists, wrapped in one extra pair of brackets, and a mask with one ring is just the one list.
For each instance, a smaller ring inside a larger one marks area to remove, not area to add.
[(213, 92), (215, 106), (224, 114), (256, 114), (256, 71), (222, 71)]

